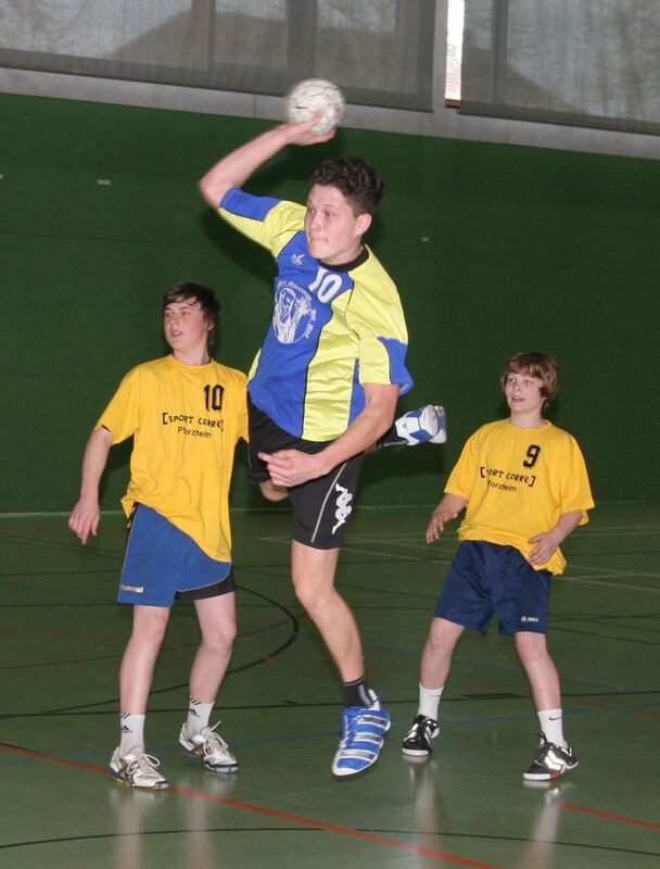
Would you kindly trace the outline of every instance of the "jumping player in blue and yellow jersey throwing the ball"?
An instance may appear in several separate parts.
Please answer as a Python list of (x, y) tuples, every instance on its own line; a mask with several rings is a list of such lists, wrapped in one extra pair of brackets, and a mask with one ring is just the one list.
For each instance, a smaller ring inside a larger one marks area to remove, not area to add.
[[(267, 499), (291, 499), (293, 585), (344, 685), (332, 772), (345, 778), (376, 763), (390, 715), (367, 682), (357, 624), (334, 574), (363, 454), (390, 430), (412, 379), (396, 287), (363, 241), (382, 194), (379, 173), (359, 158), (326, 160), (305, 205), (241, 189), (288, 146), (332, 138), (313, 133), (316, 119), (246, 142), (213, 166), (200, 189), (277, 263), (274, 316), (249, 376), (251, 477)], [(409, 415), (398, 439), (385, 443), (428, 440), (423, 431), (418, 438), (428, 411)], [(431, 416), (437, 434), (433, 408)], [(444, 440), (440, 429), (436, 442)]]

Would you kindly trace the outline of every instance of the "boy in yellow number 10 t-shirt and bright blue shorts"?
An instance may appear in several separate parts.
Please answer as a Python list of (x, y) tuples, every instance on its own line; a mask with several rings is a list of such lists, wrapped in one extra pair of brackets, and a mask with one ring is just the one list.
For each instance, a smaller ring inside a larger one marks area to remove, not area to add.
[(87, 442), (80, 499), (68, 520), (82, 543), (97, 534), (110, 448), (132, 437), (122, 501), (130, 532), (117, 600), (132, 604), (134, 618), (119, 670), (120, 742), (109, 771), (130, 788), (168, 788), (158, 760), (144, 751), (143, 731), (176, 597), (194, 603), (202, 634), (178, 747), (214, 772), (238, 768), (217, 725), (210, 726), (236, 637), (229, 482), (236, 444), (248, 438), (245, 375), (208, 351), (219, 311), (214, 292), (198, 284), (177, 284), (165, 293), (172, 354), (138, 365), (122, 380)]

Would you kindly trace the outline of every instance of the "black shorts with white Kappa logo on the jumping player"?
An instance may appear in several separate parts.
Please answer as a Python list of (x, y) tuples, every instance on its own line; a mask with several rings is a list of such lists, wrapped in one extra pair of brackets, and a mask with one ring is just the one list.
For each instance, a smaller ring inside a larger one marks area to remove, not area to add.
[[(320, 453), (332, 441), (317, 442), (296, 438), (281, 429), (250, 400), (250, 478), (255, 482), (269, 479), (266, 463), (258, 453), (301, 450)], [(292, 538), (306, 546), (332, 550), (341, 546), (353, 511), (363, 454), (346, 459), (323, 477), (317, 477), (289, 489), (293, 506)]]

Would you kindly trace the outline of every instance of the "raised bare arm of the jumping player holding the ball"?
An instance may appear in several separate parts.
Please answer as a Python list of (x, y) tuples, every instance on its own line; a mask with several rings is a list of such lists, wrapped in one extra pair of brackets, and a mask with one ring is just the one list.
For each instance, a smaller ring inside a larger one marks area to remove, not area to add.
[(334, 136), (334, 129), (317, 134), (312, 129), (322, 111), (310, 121), (280, 124), (257, 136), (236, 151), (224, 156), (200, 180), (200, 192), (213, 209), (217, 209), (225, 193), (232, 187), (242, 187), (258, 167), (288, 144), (319, 144)]

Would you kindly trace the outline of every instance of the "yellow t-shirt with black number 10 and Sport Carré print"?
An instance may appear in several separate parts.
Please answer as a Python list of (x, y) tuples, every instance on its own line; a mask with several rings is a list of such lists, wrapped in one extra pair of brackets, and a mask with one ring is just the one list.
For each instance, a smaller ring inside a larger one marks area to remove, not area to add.
[(132, 368), (94, 428), (113, 444), (134, 437), (126, 515), (145, 504), (212, 558), (231, 561), (229, 483), (238, 440), (248, 440), (246, 377), (212, 361), (165, 356)]

